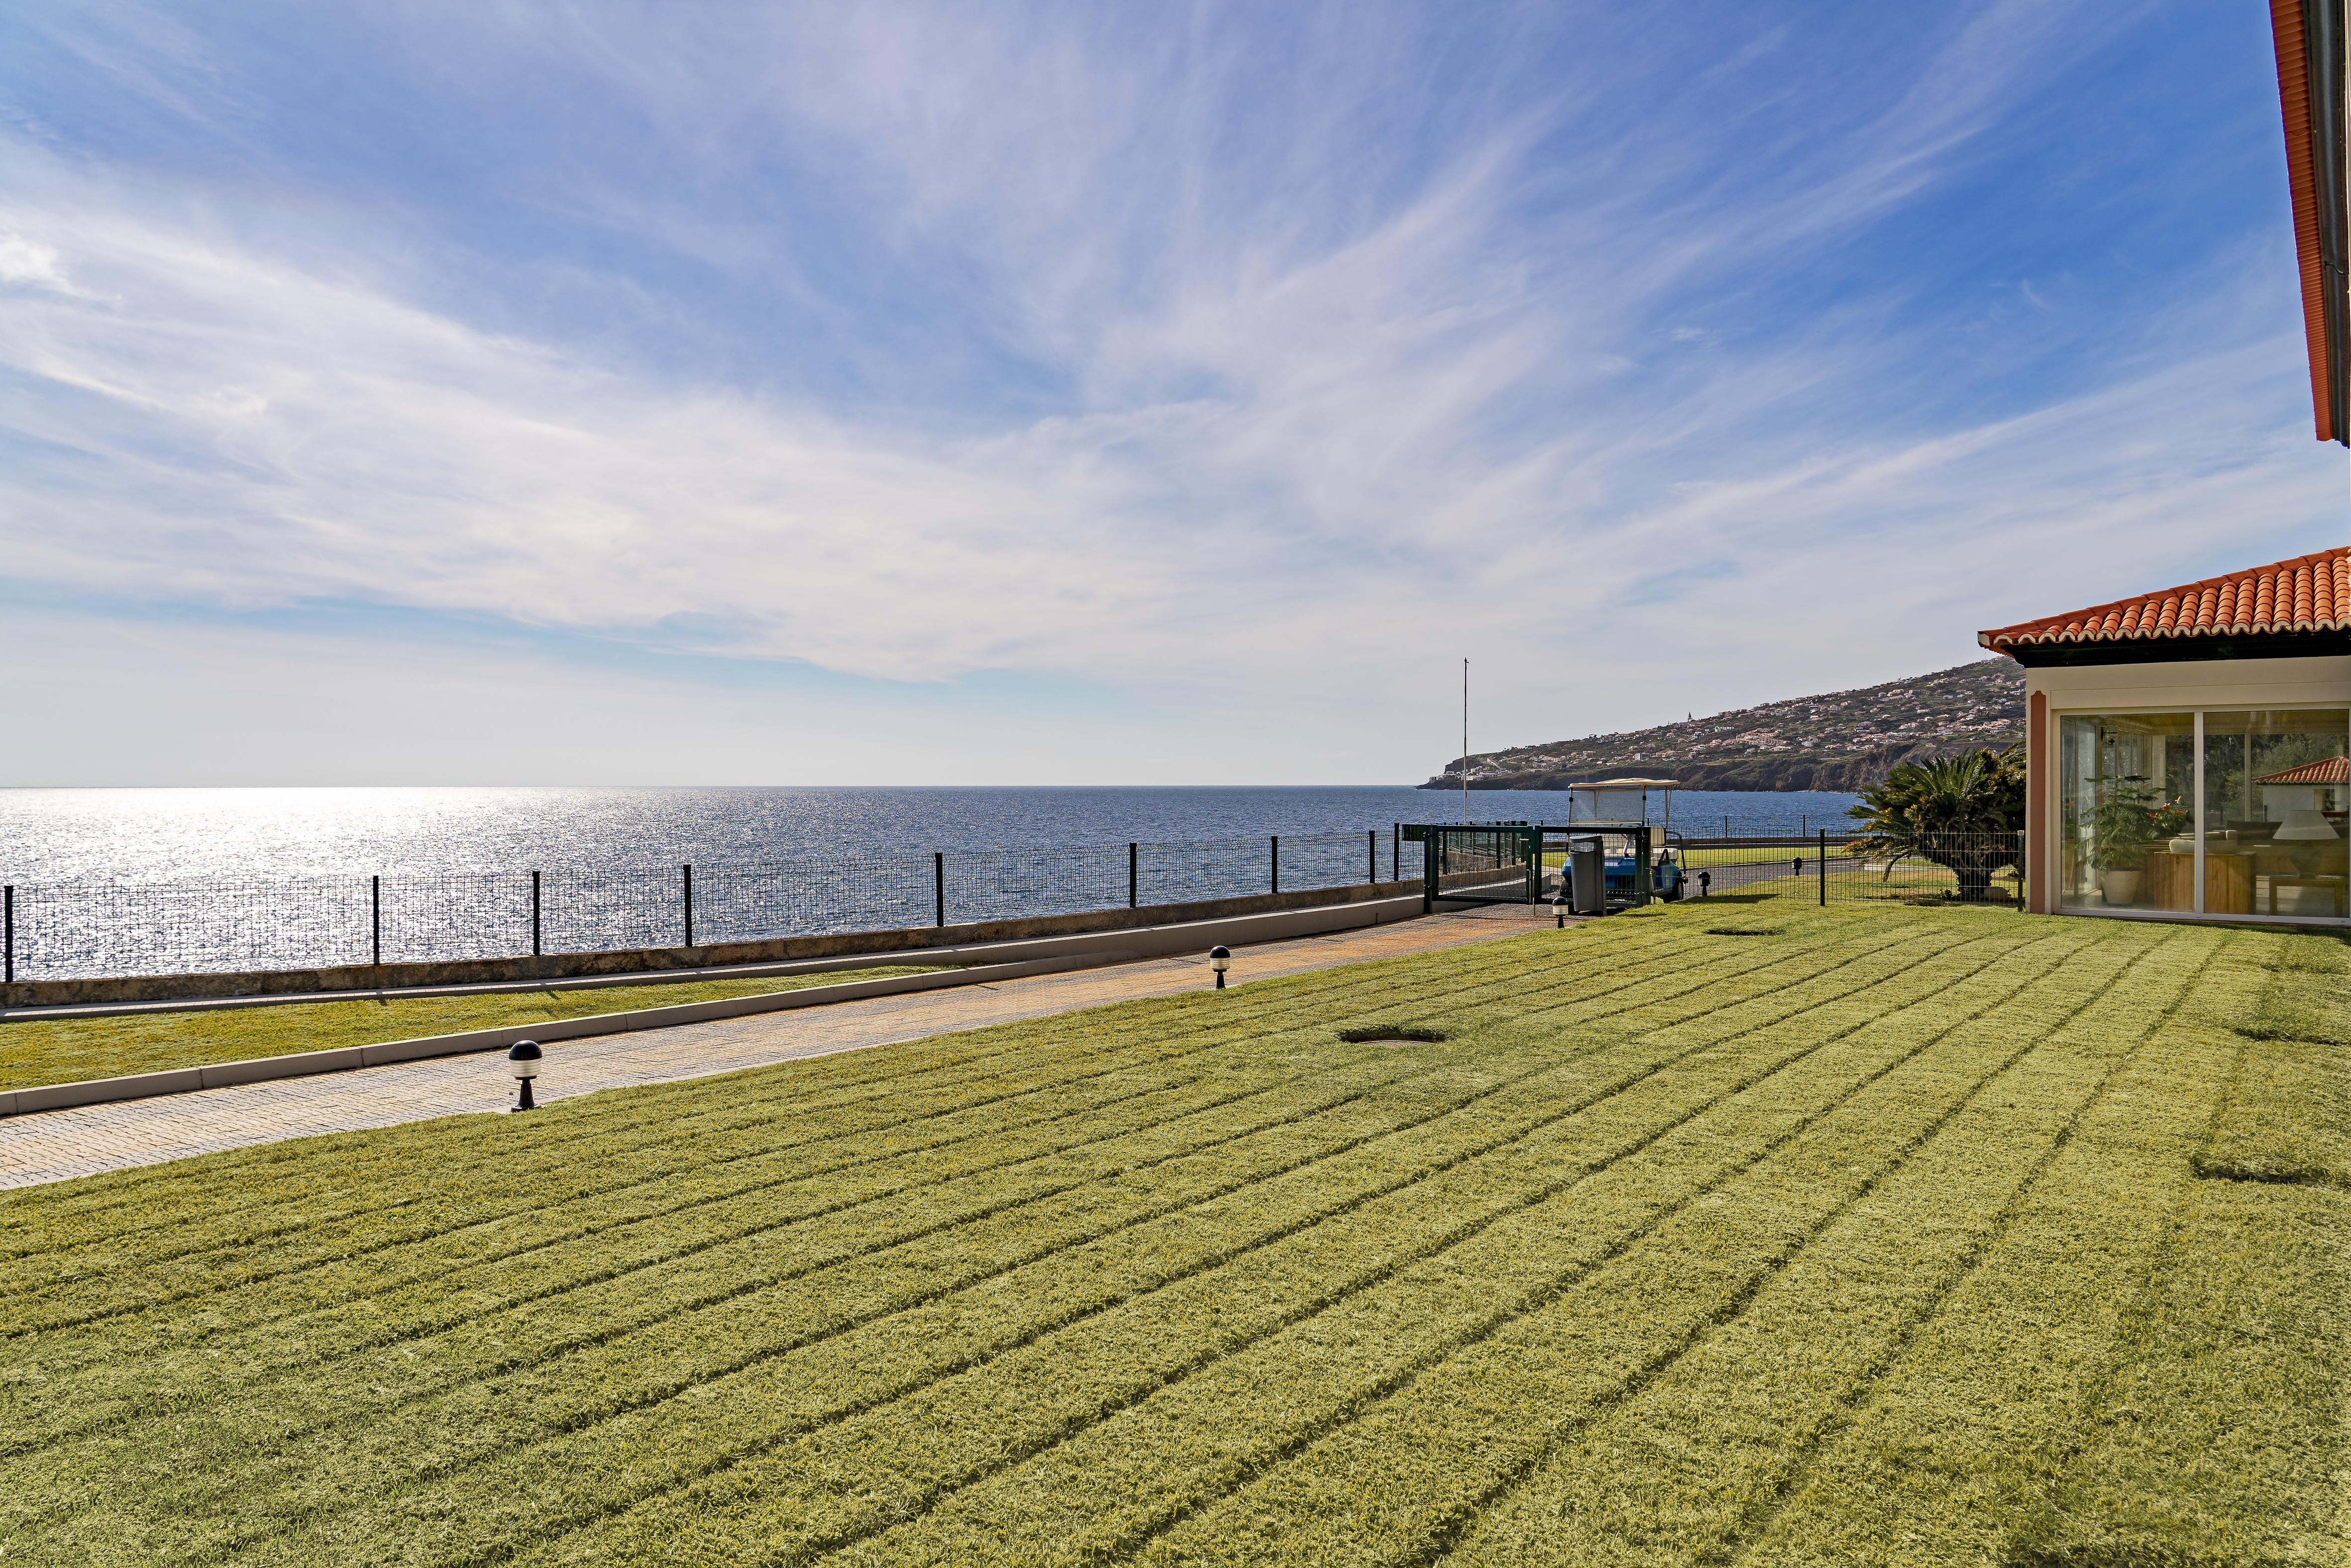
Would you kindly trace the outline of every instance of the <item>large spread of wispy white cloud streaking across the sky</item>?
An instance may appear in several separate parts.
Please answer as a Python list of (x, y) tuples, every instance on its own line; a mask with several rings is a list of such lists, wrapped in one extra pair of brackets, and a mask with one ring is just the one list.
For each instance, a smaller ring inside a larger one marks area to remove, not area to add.
[[(562, 275), (696, 313), (592, 247), (468, 256), (407, 207), (306, 221), (287, 186), (197, 200), (16, 136), (0, 548), (19, 583), (120, 604), (1180, 691), (1201, 701), (1171, 731), (1244, 778), (1434, 766), (1436, 724), (1335, 738), (1432, 696), (1453, 644), (1491, 654), (1509, 738), (1933, 668), (1975, 625), (2309, 548), (2332, 501), (2295, 444), (2297, 346), (2245, 315), (2290, 287), (2283, 244), (2151, 284), (2130, 353), (2109, 331), (2104, 369), (1977, 407), (1935, 388), (1954, 317), (1900, 277), (1766, 294), (2125, 24), (1987, 7), (1817, 141), (1742, 162), (1735, 115), (1625, 118), (1672, 52), (1641, 33), (1547, 85), (1505, 61), (1479, 99), (1415, 78), (1444, 38), (1406, 12), (1307, 16), (1291, 71), (1215, 9), (447, 16), (473, 63), (437, 92), (527, 54), (597, 82), (670, 172), (576, 160), (527, 207), (729, 287), (773, 263), (795, 322), (875, 360), (790, 374), (776, 334), (776, 374), (658, 362), (468, 303)], [(219, 52), (118, 71), (247, 134)], [(820, 207), (778, 216), (795, 197)], [(853, 252), (795, 240), (844, 216)], [(919, 280), (936, 331), (823, 282), (844, 256)], [(924, 353), (936, 397), (905, 390)], [(1089, 741), (1072, 717), (1039, 776)]]

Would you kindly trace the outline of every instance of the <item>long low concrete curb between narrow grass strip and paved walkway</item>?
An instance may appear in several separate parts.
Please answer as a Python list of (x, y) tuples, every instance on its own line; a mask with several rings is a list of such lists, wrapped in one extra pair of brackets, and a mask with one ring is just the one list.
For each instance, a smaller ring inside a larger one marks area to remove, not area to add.
[[(162, 1072), (134, 1072), (118, 1079), (82, 1079), (80, 1084), (40, 1084), (33, 1088), (0, 1088), (0, 1117), (19, 1117), (45, 1110), (71, 1110), (75, 1105), (108, 1105), (113, 1100), (146, 1100), (153, 1095), (195, 1093), (197, 1088), (230, 1088), (235, 1084), (301, 1079), (320, 1072), (350, 1072), (355, 1067), (386, 1067), (390, 1063), (414, 1063), (433, 1056), (463, 1056), (468, 1051), (503, 1051), (513, 1046), (517, 1039), (536, 1039), (541, 1044), (550, 1044), (562, 1039), (588, 1039), (595, 1034), (628, 1034), (632, 1030), (665, 1030), (682, 1023), (710, 1023), (717, 1018), (783, 1013), (802, 1006), (825, 1006), (830, 1001), (858, 1001), (863, 997), (900, 997), (907, 992), (947, 990), (957, 985), (987, 985), (990, 980), (1018, 980), (1023, 976), (1049, 976), (1049, 973), (1065, 973), (1072, 969), (1100, 969), (1105, 964), (1124, 964), (1145, 957), (1166, 957), (1171, 952), (1206, 952), (1218, 943), (1227, 947), (1246, 947), (1253, 943), (1277, 943), (1298, 936), (1321, 936), (1326, 931), (1354, 931), (1361, 926), (1382, 926), (1396, 919), (1418, 919), (1420, 914), (1422, 914), (1420, 898), (1382, 898), (1375, 903), (1324, 905), (1317, 910), (1237, 914), (1230, 919), (1206, 919), (1183, 926), (1140, 926), (1140, 929), (1131, 926), (1126, 931), (1096, 931), (1084, 936), (1002, 943), (997, 945), (999, 950), (1011, 947), (1027, 952), (1023, 952), (1013, 961), (976, 964), (971, 969), (950, 969), (929, 976), (842, 980), (839, 985), (809, 985), (795, 992), (766, 992), (759, 997), (719, 997), (712, 1001), (679, 1001), (672, 1006), (630, 1009), (625, 1013), (592, 1013), (588, 1018), (513, 1023), (513, 1025), (501, 1025), (496, 1030), (465, 1030), (461, 1034), (393, 1039), (374, 1046), (339, 1046), (334, 1051), (256, 1056), (242, 1063), (167, 1067)], [(806, 969), (806, 964), (802, 964), (799, 969)], [(724, 973), (729, 971), (712, 971), (698, 978), (722, 978)], [(734, 971), (734, 973), (759, 976), (764, 973), (764, 969), (752, 966), (750, 971)], [(534, 990), (543, 990), (543, 985)], [(310, 999), (315, 1001), (317, 997)], [(54, 1018), (56, 1013), (47, 1016)]]

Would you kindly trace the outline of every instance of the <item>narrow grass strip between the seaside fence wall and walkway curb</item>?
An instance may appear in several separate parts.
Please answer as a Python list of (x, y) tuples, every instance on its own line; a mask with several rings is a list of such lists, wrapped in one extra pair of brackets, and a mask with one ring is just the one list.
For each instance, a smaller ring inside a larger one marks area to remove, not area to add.
[(0, 1023), (0, 1088), (80, 1084), (127, 1072), (245, 1063), (256, 1056), (371, 1046), (545, 1023), (642, 1006), (677, 1006), (719, 997), (919, 976), (952, 964), (893, 964), (748, 980), (651, 980), (588, 990), (484, 992), (473, 997), (360, 997), (353, 1001), (275, 1001), (268, 1006), (181, 1009), (172, 1013), (106, 1013), (96, 1018), (14, 1018)]

